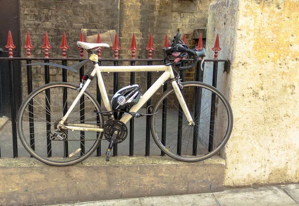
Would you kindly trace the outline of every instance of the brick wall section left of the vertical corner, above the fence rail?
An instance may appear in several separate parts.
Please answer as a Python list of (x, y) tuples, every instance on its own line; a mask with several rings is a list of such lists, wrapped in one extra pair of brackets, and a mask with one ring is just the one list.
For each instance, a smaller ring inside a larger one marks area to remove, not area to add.
[(50, 57), (61, 56), (58, 47), (63, 31), (70, 46), (68, 57), (78, 57), (76, 41), (80, 39), (82, 28), (118, 30), (119, 0), (21, 0), (21, 41), (24, 45), (29, 31), (35, 47), (33, 57), (42, 56), (40, 47), (45, 31), (53, 47)]

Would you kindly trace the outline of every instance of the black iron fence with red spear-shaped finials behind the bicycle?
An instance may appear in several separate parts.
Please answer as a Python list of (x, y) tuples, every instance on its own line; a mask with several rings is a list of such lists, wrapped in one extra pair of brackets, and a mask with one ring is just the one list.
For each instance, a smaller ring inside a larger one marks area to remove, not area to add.
[[(185, 40), (185, 35), (183, 35), (182, 40), (184, 42), (186, 42)], [(83, 33), (81, 33), (80, 36), (80, 41), (84, 41), (84, 37), (83, 37)], [(97, 43), (100, 43), (100, 34), (98, 34), (98, 39), (97, 39)], [(165, 36), (165, 42), (164, 42), (164, 47), (168, 47), (169, 46), (169, 42), (168, 42), (168, 36), (166, 34)], [(66, 43), (66, 37), (65, 37), (65, 33), (63, 33), (63, 37), (62, 37), (62, 43), (61, 46), (59, 47), (62, 50), (62, 56), (63, 58), (49, 58), (49, 54), (48, 54), (48, 49), (51, 48), (51, 46), (49, 45), (49, 41), (48, 41), (48, 37), (47, 37), (47, 32), (45, 32), (45, 37), (44, 37), (44, 44), (42, 46), (42, 49), (44, 49), (45, 53), (44, 53), (44, 57), (43, 58), (31, 58), (30, 57), (30, 49), (33, 48), (33, 46), (31, 45), (31, 40), (30, 40), (30, 36), (29, 36), (29, 32), (27, 32), (27, 39), (26, 39), (26, 45), (24, 46), (24, 48), (27, 51), (27, 57), (26, 58), (20, 58), (20, 57), (13, 57), (13, 49), (15, 48), (15, 46), (13, 45), (12, 42), (12, 37), (11, 37), (11, 33), (10, 31), (8, 32), (8, 39), (7, 39), (7, 45), (5, 46), (5, 48), (8, 49), (8, 57), (0, 57), (0, 73), (2, 71), (9, 71), (9, 86), (7, 87), (7, 85), (5, 85), (5, 87), (7, 88), (7, 90), (3, 90), (3, 88), (0, 88), (1, 96), (3, 96), (3, 93), (10, 93), (10, 118), (11, 118), (11, 130), (12, 130), (12, 145), (11, 145), (11, 149), (13, 151), (13, 157), (16, 158), (18, 157), (18, 147), (17, 147), (17, 128), (16, 128), (16, 116), (17, 116), (17, 112), (18, 112), (18, 108), (19, 105), (22, 101), (22, 91), (19, 85), (22, 85), (21, 83), (21, 78), (20, 78), (20, 71), (22, 72), (26, 72), (26, 74), (24, 75), (24, 73), (22, 74), (22, 77), (27, 79), (27, 94), (30, 94), (33, 90), (33, 81), (32, 81), (32, 67), (31, 65), (26, 65), (26, 70), (21, 70), (20, 69), (20, 65), (25, 65), (25, 64), (30, 64), (30, 63), (34, 63), (36, 61), (44, 61), (44, 62), (61, 62), (62, 65), (67, 65), (69, 64), (70, 61), (72, 62), (78, 62), (78, 61), (82, 61), (83, 60), (83, 56), (84, 56), (84, 51), (82, 48), (78, 48), (80, 50), (80, 56), (81, 58), (66, 58), (66, 50), (69, 49), (69, 47), (67, 46)], [(198, 50), (200, 50), (201, 48), (203, 48), (202, 45), (202, 37), (200, 35), (199, 41), (198, 41), (198, 45), (197, 48)], [(149, 44), (148, 47), (146, 47), (146, 50), (148, 50), (149, 52), (149, 58), (148, 59), (135, 59), (135, 50), (137, 50), (137, 46), (136, 46), (136, 41), (135, 41), (135, 35), (133, 34), (133, 38), (132, 38), (132, 44), (131, 47), (129, 48), (129, 50), (132, 51), (132, 59), (118, 59), (118, 50), (120, 50), (121, 47), (119, 46), (119, 42), (118, 42), (118, 36), (115, 36), (115, 41), (114, 41), (114, 46), (112, 47), (112, 50), (114, 50), (114, 56), (115, 58), (113, 59), (104, 59), (101, 58), (101, 49), (98, 50), (98, 56), (99, 56), (99, 64), (101, 65), (102, 63), (105, 65), (114, 65), (114, 66), (118, 66), (120, 64), (122, 65), (129, 65), (131, 64), (132, 66), (134, 66), (136, 63), (140, 64), (140, 65), (152, 65), (154, 64), (162, 64), (161, 63), (161, 59), (152, 59), (152, 51), (155, 49), (153, 47), (153, 41), (152, 41), (152, 35), (149, 35)], [(218, 63), (219, 62), (224, 62), (224, 68), (222, 68), (223, 71), (228, 72), (229, 71), (229, 61), (228, 60), (218, 60), (217, 56), (218, 56), (218, 51), (221, 50), (221, 48), (219, 47), (219, 36), (217, 35), (216, 37), (216, 41), (215, 41), (215, 46), (212, 48), (212, 50), (215, 52), (214, 55), (214, 59), (213, 60), (205, 60), (206, 62), (213, 62), (213, 67), (209, 67), (206, 69), (213, 69), (212, 72), (212, 85), (214, 87), (217, 87), (217, 72), (218, 72)], [(183, 64), (186, 62), (186, 60), (182, 60)], [(4, 66), (3, 66), (4, 65)], [(35, 68), (34, 68), (35, 69)], [(47, 84), (50, 82), (50, 68), (49, 66), (45, 65), (43, 68), (39, 67), (40, 72), (42, 71), (42, 69), (44, 70), (44, 83)], [(84, 76), (84, 71), (85, 68), (84, 66), (80, 69), (79, 71), (79, 75), (76, 77), (77, 81), (80, 82), (82, 77)], [(181, 73), (181, 78), (182, 80), (184, 80), (184, 78), (188, 78), (188, 81), (190, 80), (195, 80), (195, 81), (203, 81), (203, 74), (204, 71), (201, 71), (200, 69), (200, 61), (197, 63), (195, 70), (192, 70), (194, 73), (190, 73), (190, 71), (186, 72), (186, 76), (185, 73)], [(41, 72), (42, 73), (42, 72)], [(67, 71), (65, 69), (62, 69), (62, 78), (61, 80), (64, 82), (68, 81), (67, 78)], [(147, 72), (147, 89), (151, 86), (152, 83), (152, 72)], [(115, 72), (113, 73), (113, 88), (107, 88), (110, 91), (113, 91), (113, 93), (116, 93), (119, 89), (119, 73)], [(2, 77), (1, 79), (3, 80), (3, 78), (8, 78), (8, 77)], [(135, 72), (131, 72), (130, 74), (130, 84), (135, 84)], [(60, 81), (60, 79), (59, 79)], [(41, 81), (42, 82), (42, 81)], [(3, 84), (1, 82), (2, 87)], [(9, 89), (8, 89), (9, 88)], [(163, 91), (165, 91), (167, 89), (167, 84), (164, 84), (163, 86)], [(24, 93), (24, 92), (23, 92)], [(5, 95), (6, 97), (6, 95)], [(101, 105), (101, 93), (100, 90), (98, 88), (98, 82), (97, 82), (97, 89), (96, 89), (96, 99), (97, 101), (100, 103)], [(81, 100), (80, 100), (81, 101)], [(213, 108), (215, 108), (215, 101), (212, 101), (212, 105), (211, 111), (214, 111)], [(81, 104), (81, 103), (80, 103)], [(151, 100), (149, 100), (147, 102), (147, 106), (149, 106), (151, 104)], [(83, 104), (81, 104), (83, 106)], [(0, 101), (0, 110), (3, 110), (3, 105), (1, 104)], [(29, 108), (30, 109), (30, 108)], [(81, 109), (81, 108), (80, 108)], [(7, 111), (7, 109), (6, 109)], [(80, 110), (80, 112), (83, 112), (84, 110)], [(65, 111), (66, 112), (66, 111)], [(1, 115), (2, 113), (0, 113)], [(29, 118), (32, 118), (29, 116)], [(150, 116), (146, 117), (146, 141), (145, 141), (145, 155), (149, 156), (150, 154)], [(213, 122), (214, 118), (214, 114), (213, 112), (211, 112), (211, 122)], [(131, 119), (130, 121), (130, 144), (129, 144), (129, 155), (133, 156), (134, 155), (134, 127), (135, 127), (135, 120), (134, 118)], [(31, 128), (31, 127), (30, 127)], [(31, 133), (31, 132), (30, 132)], [(210, 134), (210, 137), (213, 137), (212, 134)], [(213, 141), (210, 141), (213, 142)], [(4, 145), (5, 149), (7, 150), (8, 145)], [(3, 143), (1, 143), (1, 139), (0, 139), (0, 157), (1, 157), (1, 147), (3, 147)], [(209, 145), (210, 147), (210, 145)], [(178, 147), (179, 148), (179, 147)], [(117, 156), (118, 155), (118, 145), (114, 146), (113, 149), (113, 155)], [(163, 155), (163, 153), (161, 154)], [(101, 147), (99, 147), (97, 149), (97, 156), (101, 156)]]

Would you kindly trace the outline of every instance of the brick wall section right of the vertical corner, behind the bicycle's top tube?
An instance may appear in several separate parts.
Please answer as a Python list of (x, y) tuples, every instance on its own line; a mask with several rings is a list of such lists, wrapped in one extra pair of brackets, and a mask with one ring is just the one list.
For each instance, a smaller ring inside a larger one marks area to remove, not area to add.
[[(148, 58), (146, 47), (149, 33), (152, 33), (155, 50), (152, 58), (163, 58), (165, 34), (169, 41), (177, 32), (186, 34), (186, 44), (193, 48), (193, 30), (206, 27), (208, 6), (211, 0), (120, 0), (120, 43), (125, 49), (120, 51), (123, 58), (131, 58), (131, 45), (133, 32), (136, 35), (136, 58)], [(186, 72), (186, 80), (193, 79), (194, 71)], [(126, 74), (124, 74), (126, 75)], [(125, 77), (121, 74), (120, 80)], [(153, 81), (159, 74), (153, 73)], [(140, 80), (142, 90), (146, 90), (146, 73), (136, 74)], [(137, 80), (137, 79), (136, 79)], [(123, 85), (130, 82), (122, 81)], [(158, 91), (161, 93), (161, 90)], [(154, 100), (153, 100), (154, 101)]]

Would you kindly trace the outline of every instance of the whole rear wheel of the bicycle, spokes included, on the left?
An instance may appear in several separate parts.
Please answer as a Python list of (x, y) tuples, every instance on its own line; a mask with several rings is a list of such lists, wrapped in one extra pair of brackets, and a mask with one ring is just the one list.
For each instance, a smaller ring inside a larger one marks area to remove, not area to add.
[[(101, 132), (57, 129), (79, 94), (77, 89), (74, 84), (53, 82), (35, 89), (23, 101), (17, 117), (18, 135), (32, 157), (52, 166), (69, 166), (85, 160), (98, 147)], [(100, 105), (85, 91), (64, 125), (102, 128), (103, 116), (94, 111), (100, 112)]]

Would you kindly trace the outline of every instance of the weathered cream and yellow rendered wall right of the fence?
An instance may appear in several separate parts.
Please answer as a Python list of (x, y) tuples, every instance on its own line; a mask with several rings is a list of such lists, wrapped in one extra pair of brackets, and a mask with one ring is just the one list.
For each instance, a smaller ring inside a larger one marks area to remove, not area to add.
[[(215, 0), (207, 47), (220, 34), (218, 74), (234, 129), (225, 146), (226, 186), (299, 182), (298, 0)], [(208, 57), (213, 54), (208, 53)]]

